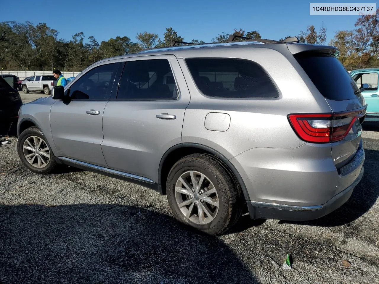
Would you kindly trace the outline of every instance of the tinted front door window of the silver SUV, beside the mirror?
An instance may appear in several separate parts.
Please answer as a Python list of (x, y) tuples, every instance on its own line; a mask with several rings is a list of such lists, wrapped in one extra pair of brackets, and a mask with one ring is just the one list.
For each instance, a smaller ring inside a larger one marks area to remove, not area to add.
[(71, 99), (108, 100), (112, 92), (117, 66), (118, 63), (111, 63), (89, 70), (70, 87)]

